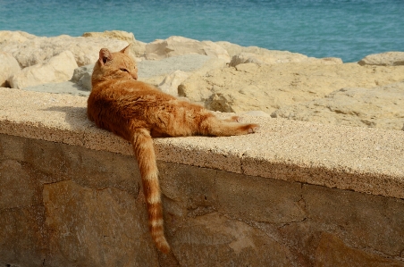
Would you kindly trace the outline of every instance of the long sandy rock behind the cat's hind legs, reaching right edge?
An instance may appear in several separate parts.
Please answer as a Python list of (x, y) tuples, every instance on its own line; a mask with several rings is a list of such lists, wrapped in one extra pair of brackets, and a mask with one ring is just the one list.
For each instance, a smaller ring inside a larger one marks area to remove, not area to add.
[(239, 64), (235, 68), (190, 76), (180, 96), (226, 113), (261, 110), (273, 113), (286, 105), (327, 96), (341, 88), (374, 88), (404, 79), (404, 67), (360, 66), (357, 63)]

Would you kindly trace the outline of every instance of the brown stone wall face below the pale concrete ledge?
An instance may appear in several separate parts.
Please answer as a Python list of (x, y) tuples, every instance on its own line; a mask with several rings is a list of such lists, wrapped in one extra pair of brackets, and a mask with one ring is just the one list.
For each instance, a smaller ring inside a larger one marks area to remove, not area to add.
[(402, 199), (158, 167), (169, 256), (149, 237), (132, 156), (1, 134), (0, 263), (404, 266)]

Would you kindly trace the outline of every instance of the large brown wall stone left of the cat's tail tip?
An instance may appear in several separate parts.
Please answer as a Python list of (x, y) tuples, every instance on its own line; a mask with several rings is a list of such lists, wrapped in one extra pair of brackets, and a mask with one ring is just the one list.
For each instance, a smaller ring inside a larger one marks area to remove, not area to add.
[(49, 265), (158, 266), (144, 205), (128, 193), (65, 181), (46, 185), (43, 195)]

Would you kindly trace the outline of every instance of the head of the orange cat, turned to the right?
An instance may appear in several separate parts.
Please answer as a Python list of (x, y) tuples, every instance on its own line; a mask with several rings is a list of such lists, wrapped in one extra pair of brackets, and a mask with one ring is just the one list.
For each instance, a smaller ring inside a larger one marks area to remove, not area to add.
[(129, 56), (129, 47), (126, 46), (114, 53), (102, 48), (94, 66), (93, 76), (105, 79), (138, 79), (138, 68), (136, 62)]

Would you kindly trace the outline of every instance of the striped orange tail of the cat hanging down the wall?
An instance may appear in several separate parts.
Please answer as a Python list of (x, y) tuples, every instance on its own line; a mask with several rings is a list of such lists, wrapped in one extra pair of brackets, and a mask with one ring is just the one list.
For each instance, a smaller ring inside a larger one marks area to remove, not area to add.
[(157, 248), (167, 254), (170, 245), (164, 237), (163, 208), (161, 203), (158, 169), (153, 139), (147, 129), (134, 129), (132, 132), (133, 151), (138, 159), (148, 213), (148, 227)]

